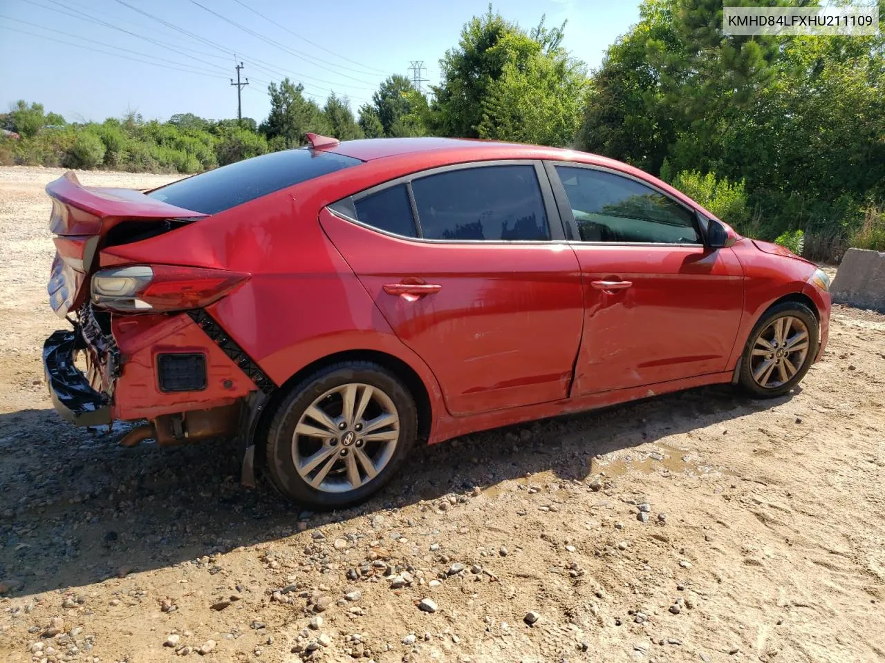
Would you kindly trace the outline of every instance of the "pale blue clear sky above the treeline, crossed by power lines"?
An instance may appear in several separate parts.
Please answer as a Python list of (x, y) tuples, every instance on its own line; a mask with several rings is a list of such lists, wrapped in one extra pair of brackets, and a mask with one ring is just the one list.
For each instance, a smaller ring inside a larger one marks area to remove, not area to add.
[[(494, 8), (522, 27), (542, 14), (549, 26), (567, 19), (566, 48), (595, 67), (638, 20), (638, 5), (508, 0)], [(412, 60), (423, 60), (424, 77), (438, 82), (440, 57), (487, 7), (487, 0), (0, 0), (0, 108), (41, 102), (69, 122), (127, 110), (164, 120), (180, 112), (235, 118), (230, 78), (242, 60), (250, 81), (243, 117), (265, 118), (267, 82), (287, 74), (320, 104), (335, 90), (357, 110), (389, 74), (411, 76)]]

